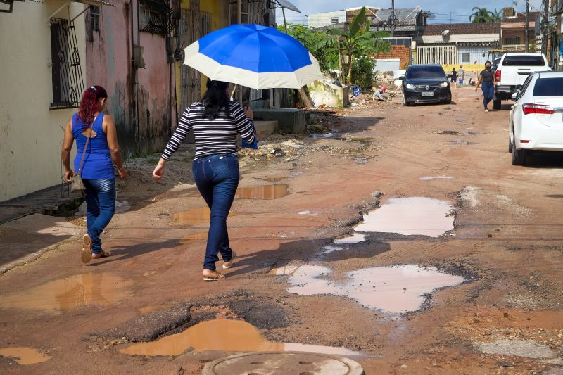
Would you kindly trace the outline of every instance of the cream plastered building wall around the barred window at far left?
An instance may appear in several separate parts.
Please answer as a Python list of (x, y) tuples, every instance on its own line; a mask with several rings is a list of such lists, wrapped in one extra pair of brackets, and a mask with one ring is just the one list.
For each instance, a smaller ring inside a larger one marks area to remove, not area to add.
[[(49, 110), (53, 89), (47, 18), (63, 4), (16, 1), (13, 13), (0, 15), (0, 201), (61, 183), (61, 127), (75, 109)], [(54, 17), (73, 18), (81, 10), (65, 6)], [(75, 30), (84, 73), (83, 18), (75, 20)]]

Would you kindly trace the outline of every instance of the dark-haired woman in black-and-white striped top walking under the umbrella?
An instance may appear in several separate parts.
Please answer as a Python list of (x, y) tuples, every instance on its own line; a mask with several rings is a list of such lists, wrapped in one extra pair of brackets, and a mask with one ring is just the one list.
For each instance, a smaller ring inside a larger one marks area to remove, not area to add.
[(221, 253), (224, 269), (232, 267), (236, 258), (236, 253), (229, 247), (227, 233), (227, 216), (239, 186), (236, 134), (240, 134), (247, 144), (253, 144), (256, 131), (252, 118), (250, 108), (245, 111), (239, 102), (229, 100), (227, 82), (208, 80), (203, 99), (184, 111), (153, 171), (153, 179), (162, 179), (167, 160), (170, 160), (187, 134), (194, 132), (196, 155), (191, 172), (211, 210), (203, 262), (204, 281), (224, 279), (224, 274), (217, 272), (215, 267), (215, 262), (219, 260), (218, 253)]

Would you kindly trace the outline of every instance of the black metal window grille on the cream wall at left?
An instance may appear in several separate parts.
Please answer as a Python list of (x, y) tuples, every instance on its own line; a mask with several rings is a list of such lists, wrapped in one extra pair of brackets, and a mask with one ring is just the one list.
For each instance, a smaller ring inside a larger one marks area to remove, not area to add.
[(51, 18), (53, 102), (51, 109), (77, 108), (84, 92), (78, 41), (72, 20)]

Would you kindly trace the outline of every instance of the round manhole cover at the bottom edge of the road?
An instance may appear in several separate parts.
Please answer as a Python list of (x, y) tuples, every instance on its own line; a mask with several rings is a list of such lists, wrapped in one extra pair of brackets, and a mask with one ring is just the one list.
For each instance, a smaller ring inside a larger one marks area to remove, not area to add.
[(250, 352), (205, 364), (202, 375), (363, 375), (358, 362), (306, 352)]

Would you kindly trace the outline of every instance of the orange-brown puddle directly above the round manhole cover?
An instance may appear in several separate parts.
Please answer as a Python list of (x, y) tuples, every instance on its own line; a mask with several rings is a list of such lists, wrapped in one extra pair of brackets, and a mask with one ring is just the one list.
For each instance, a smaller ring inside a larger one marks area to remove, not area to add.
[(182, 333), (165, 336), (152, 343), (138, 343), (120, 350), (127, 355), (181, 355), (205, 350), (227, 352), (303, 351), (336, 355), (358, 355), (346, 348), (272, 343), (253, 325), (242, 320), (215, 319), (191, 326)]

